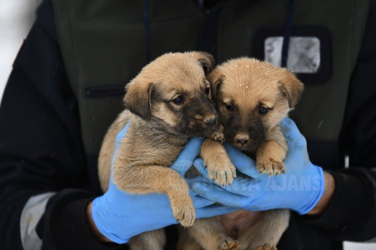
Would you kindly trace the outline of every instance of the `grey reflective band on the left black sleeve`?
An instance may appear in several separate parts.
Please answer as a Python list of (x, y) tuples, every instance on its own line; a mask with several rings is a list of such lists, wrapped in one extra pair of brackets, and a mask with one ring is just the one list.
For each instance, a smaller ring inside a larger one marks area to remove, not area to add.
[(41, 249), (42, 240), (38, 237), (36, 227), (45, 212), (46, 204), (56, 192), (46, 192), (29, 198), (21, 213), (21, 242), (25, 250)]

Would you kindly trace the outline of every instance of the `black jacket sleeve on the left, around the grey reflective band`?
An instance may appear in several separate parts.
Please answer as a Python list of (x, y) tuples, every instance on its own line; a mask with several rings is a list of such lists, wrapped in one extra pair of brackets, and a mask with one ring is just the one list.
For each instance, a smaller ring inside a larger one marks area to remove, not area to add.
[(94, 197), (77, 103), (56, 38), (50, 0), (14, 63), (0, 106), (0, 249), (23, 249), (20, 216), (30, 197), (56, 192), (37, 226), (43, 249), (112, 249), (86, 221)]

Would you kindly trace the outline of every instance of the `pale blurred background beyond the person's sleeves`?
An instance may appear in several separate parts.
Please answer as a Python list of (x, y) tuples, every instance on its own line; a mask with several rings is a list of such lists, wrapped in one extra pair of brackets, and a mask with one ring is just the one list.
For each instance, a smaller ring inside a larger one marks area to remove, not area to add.
[[(0, 99), (13, 61), (33, 24), (35, 10), (40, 2), (41, 0), (0, 0)], [(345, 242), (344, 249), (375, 250), (376, 243)]]

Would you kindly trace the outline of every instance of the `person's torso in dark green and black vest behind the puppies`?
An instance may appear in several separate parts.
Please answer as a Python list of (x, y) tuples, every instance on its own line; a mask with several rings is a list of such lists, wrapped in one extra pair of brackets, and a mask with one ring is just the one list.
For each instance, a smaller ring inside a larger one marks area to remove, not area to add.
[[(89, 169), (96, 168), (103, 136), (123, 108), (125, 83), (150, 60), (199, 48), (214, 53), (217, 63), (250, 56), (278, 64), (291, 14), (287, 0), (223, 1), (208, 14), (192, 0), (53, 2)], [(290, 117), (307, 138), (311, 161), (338, 168), (338, 136), (368, 1), (303, 0), (293, 7), (287, 66), (305, 90)], [(298, 220), (292, 216), (279, 249), (287, 249), (286, 237), (296, 234), (301, 237), (290, 249), (334, 249), (337, 243), (315, 240), (325, 235), (315, 235), (310, 225), (300, 230)]]

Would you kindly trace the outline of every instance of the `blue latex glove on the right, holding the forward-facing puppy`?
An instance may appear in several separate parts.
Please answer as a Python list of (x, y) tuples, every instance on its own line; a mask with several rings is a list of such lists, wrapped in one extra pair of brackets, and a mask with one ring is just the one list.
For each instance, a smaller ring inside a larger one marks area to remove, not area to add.
[[(253, 159), (225, 144), (232, 163), (249, 177), (238, 175), (230, 186), (224, 187), (214, 183), (192, 182), (191, 188), (208, 199), (228, 206), (252, 211), (290, 208), (300, 214), (307, 213), (324, 192), (323, 171), (309, 160), (306, 139), (294, 121), (285, 118), (281, 129), (289, 148), (284, 160), (285, 174), (271, 177), (259, 174)], [(194, 164), (208, 177), (202, 159), (196, 159)]]

